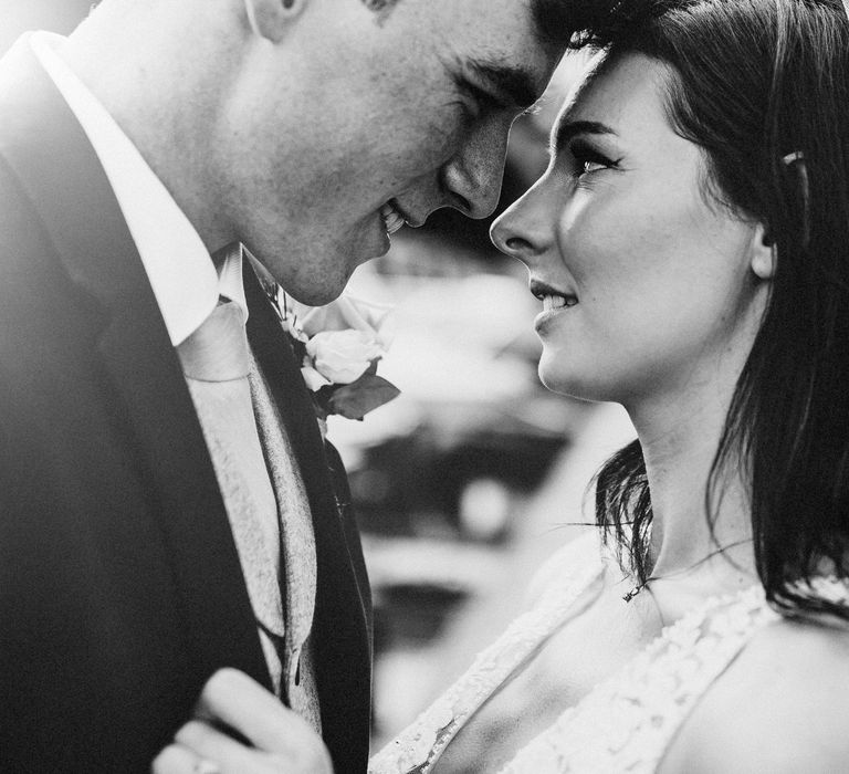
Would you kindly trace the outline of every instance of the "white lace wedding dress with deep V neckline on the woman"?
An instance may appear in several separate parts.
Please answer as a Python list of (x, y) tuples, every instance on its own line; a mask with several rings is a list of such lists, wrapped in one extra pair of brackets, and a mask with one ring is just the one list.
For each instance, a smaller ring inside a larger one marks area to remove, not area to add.
[[(536, 604), (482, 651), (472, 667), (369, 762), (369, 774), (427, 774), (464, 723), (601, 584), (598, 540), (566, 546), (546, 565)], [(556, 568), (552, 572), (552, 568)], [(822, 580), (818, 593), (849, 602)], [(520, 750), (502, 774), (611, 774), (656, 771), (699, 699), (750, 639), (778, 619), (763, 588), (705, 600), (664, 628), (633, 660)]]

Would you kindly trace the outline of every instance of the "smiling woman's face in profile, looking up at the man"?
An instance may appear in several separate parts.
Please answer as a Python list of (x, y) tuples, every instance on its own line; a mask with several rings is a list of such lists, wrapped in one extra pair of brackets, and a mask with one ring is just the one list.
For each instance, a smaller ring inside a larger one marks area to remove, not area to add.
[[(665, 67), (607, 62), (560, 113), (545, 175), (493, 240), (543, 300), (551, 389), (626, 406), (745, 362), (766, 300), (759, 224), (706, 192), (703, 151), (673, 130)], [(717, 370), (719, 369), (719, 370)]]

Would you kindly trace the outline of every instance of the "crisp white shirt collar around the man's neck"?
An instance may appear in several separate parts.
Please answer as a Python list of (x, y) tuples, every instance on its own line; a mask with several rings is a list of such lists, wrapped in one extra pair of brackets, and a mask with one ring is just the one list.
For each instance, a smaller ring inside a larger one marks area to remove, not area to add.
[(171, 344), (190, 336), (219, 295), (235, 301), (248, 320), (242, 251), (214, 265), (195, 227), (133, 142), (61, 57), (65, 39), (33, 32), (29, 43), (76, 116), (112, 185), (150, 281)]

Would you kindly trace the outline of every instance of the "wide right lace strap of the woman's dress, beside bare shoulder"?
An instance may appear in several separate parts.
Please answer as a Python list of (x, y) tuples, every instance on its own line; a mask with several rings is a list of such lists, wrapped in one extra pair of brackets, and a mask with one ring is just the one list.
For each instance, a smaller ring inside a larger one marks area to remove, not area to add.
[(653, 772), (695, 702), (778, 618), (761, 586), (709, 599), (566, 710), (502, 774)]

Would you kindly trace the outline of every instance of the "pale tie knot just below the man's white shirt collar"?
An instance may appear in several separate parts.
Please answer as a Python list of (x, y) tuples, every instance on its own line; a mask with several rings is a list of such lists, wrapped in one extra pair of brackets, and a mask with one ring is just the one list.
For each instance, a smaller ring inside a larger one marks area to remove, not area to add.
[(239, 305), (219, 303), (200, 327), (177, 347), (182, 373), (200, 381), (230, 381), (248, 376), (248, 336)]

